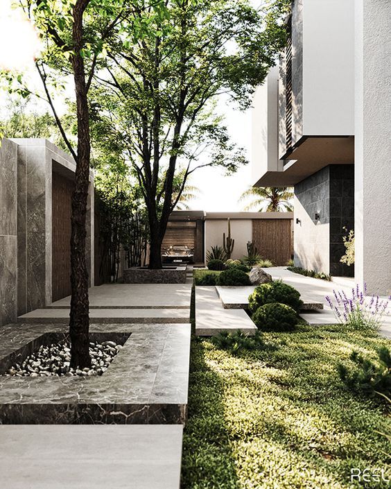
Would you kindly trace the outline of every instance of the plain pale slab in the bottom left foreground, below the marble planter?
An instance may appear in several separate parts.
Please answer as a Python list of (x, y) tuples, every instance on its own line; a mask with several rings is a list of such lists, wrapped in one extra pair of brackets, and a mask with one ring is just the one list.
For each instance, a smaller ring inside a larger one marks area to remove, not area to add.
[(182, 425), (0, 425), (4, 489), (179, 489)]

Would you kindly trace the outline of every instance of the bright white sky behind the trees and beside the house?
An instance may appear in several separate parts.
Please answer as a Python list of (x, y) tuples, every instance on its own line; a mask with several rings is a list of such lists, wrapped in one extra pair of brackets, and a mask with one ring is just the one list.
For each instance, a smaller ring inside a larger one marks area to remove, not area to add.
[[(31, 24), (26, 22), (19, 12), (12, 10), (10, 4), (11, 0), (0, 0), (0, 46), (7, 47), (0, 47), (0, 69), (19, 69), (24, 71), (33, 83), (37, 83), (33, 58), (39, 53), (39, 41)], [(251, 161), (251, 109), (241, 112), (227, 104), (227, 101), (221, 100), (218, 103), (218, 111), (225, 116), (229, 135), (234, 142), (245, 148), (247, 160)], [(238, 203), (238, 199), (252, 183), (250, 165), (243, 166), (232, 176), (225, 175), (223, 169), (218, 168), (195, 171), (190, 183), (198, 187), (200, 192), (195, 200), (189, 201), (189, 207), (207, 212), (243, 210), (244, 204)]]

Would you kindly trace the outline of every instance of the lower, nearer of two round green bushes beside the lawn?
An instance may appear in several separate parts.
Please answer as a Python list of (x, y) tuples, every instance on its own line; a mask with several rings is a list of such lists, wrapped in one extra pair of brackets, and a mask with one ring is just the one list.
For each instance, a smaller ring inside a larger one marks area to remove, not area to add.
[(297, 314), (286, 304), (272, 302), (259, 307), (252, 320), (259, 329), (266, 331), (292, 331), (297, 325)]

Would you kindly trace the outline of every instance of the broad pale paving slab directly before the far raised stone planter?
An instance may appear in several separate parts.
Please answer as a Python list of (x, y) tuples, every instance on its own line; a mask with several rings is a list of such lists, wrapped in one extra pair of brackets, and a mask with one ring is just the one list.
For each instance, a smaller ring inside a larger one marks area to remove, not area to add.
[[(189, 284), (104, 284), (89, 289), (90, 309), (186, 309)], [(70, 296), (52, 302), (53, 309), (69, 309)]]

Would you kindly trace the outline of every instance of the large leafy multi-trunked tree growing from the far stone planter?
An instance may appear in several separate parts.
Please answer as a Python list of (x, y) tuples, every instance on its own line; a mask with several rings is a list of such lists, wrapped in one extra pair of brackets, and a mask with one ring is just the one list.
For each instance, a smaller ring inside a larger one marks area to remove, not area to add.
[(203, 166), (232, 172), (245, 164), (214, 101), (226, 94), (240, 108), (250, 106), (284, 46), (279, 18), (289, 3), (257, 11), (247, 0), (167, 0), (164, 15), (135, 9), (128, 22), (136, 33), (147, 26), (145, 35), (110, 53), (108, 76), (96, 76), (92, 117), (105, 134), (96, 144), (119, 139), (137, 175), (148, 209), (150, 268), (162, 267), (168, 218), (189, 175)]

